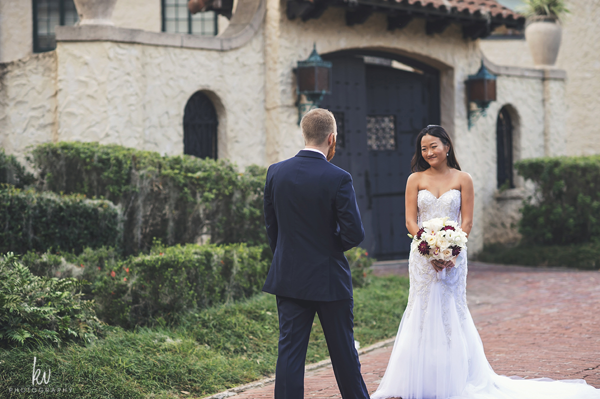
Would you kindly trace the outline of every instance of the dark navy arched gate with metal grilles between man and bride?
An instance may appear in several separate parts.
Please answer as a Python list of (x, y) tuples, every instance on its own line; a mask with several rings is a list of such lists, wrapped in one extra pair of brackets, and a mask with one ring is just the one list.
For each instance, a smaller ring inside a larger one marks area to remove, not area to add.
[(333, 63), (333, 87), (321, 106), (334, 113), (340, 143), (332, 163), (352, 174), (361, 246), (377, 259), (407, 256), (404, 190), (416, 135), (440, 121), (439, 72), (380, 52), (323, 58)]

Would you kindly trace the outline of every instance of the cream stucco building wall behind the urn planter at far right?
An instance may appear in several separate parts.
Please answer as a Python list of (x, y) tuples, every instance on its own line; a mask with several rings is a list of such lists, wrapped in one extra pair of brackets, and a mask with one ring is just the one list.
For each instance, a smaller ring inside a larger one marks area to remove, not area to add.
[[(600, 153), (600, 2), (568, 1), (556, 67), (565, 69), (566, 147), (568, 155)], [(481, 49), (500, 65), (533, 67), (524, 40), (482, 40)], [(582, 144), (585, 143), (585, 144)]]

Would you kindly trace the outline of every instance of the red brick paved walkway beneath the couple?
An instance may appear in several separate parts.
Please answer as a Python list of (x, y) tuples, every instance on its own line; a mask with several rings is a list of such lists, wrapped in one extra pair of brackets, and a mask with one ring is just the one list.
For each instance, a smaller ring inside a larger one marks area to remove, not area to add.
[[(406, 262), (380, 262), (375, 274), (406, 274)], [(469, 309), (498, 374), (583, 378), (600, 388), (600, 273), (470, 262)], [(391, 346), (361, 356), (373, 392)], [(305, 398), (340, 398), (331, 366), (309, 371)], [(273, 385), (235, 395), (272, 398)]]

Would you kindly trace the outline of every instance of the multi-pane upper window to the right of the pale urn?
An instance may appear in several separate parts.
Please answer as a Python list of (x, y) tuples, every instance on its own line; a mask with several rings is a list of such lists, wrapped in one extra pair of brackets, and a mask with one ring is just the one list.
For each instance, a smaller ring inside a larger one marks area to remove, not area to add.
[(188, 0), (163, 1), (163, 32), (215, 36), (218, 34), (217, 13), (205, 11), (191, 14)]

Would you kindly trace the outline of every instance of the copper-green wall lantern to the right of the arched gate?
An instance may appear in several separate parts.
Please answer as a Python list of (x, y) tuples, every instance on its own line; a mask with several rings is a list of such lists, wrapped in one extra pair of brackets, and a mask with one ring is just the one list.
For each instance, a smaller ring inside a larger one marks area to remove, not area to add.
[(496, 75), (491, 74), (481, 60), (481, 68), (475, 75), (469, 75), (466, 83), (470, 129), (480, 116), (487, 114), (490, 102), (496, 101)]

